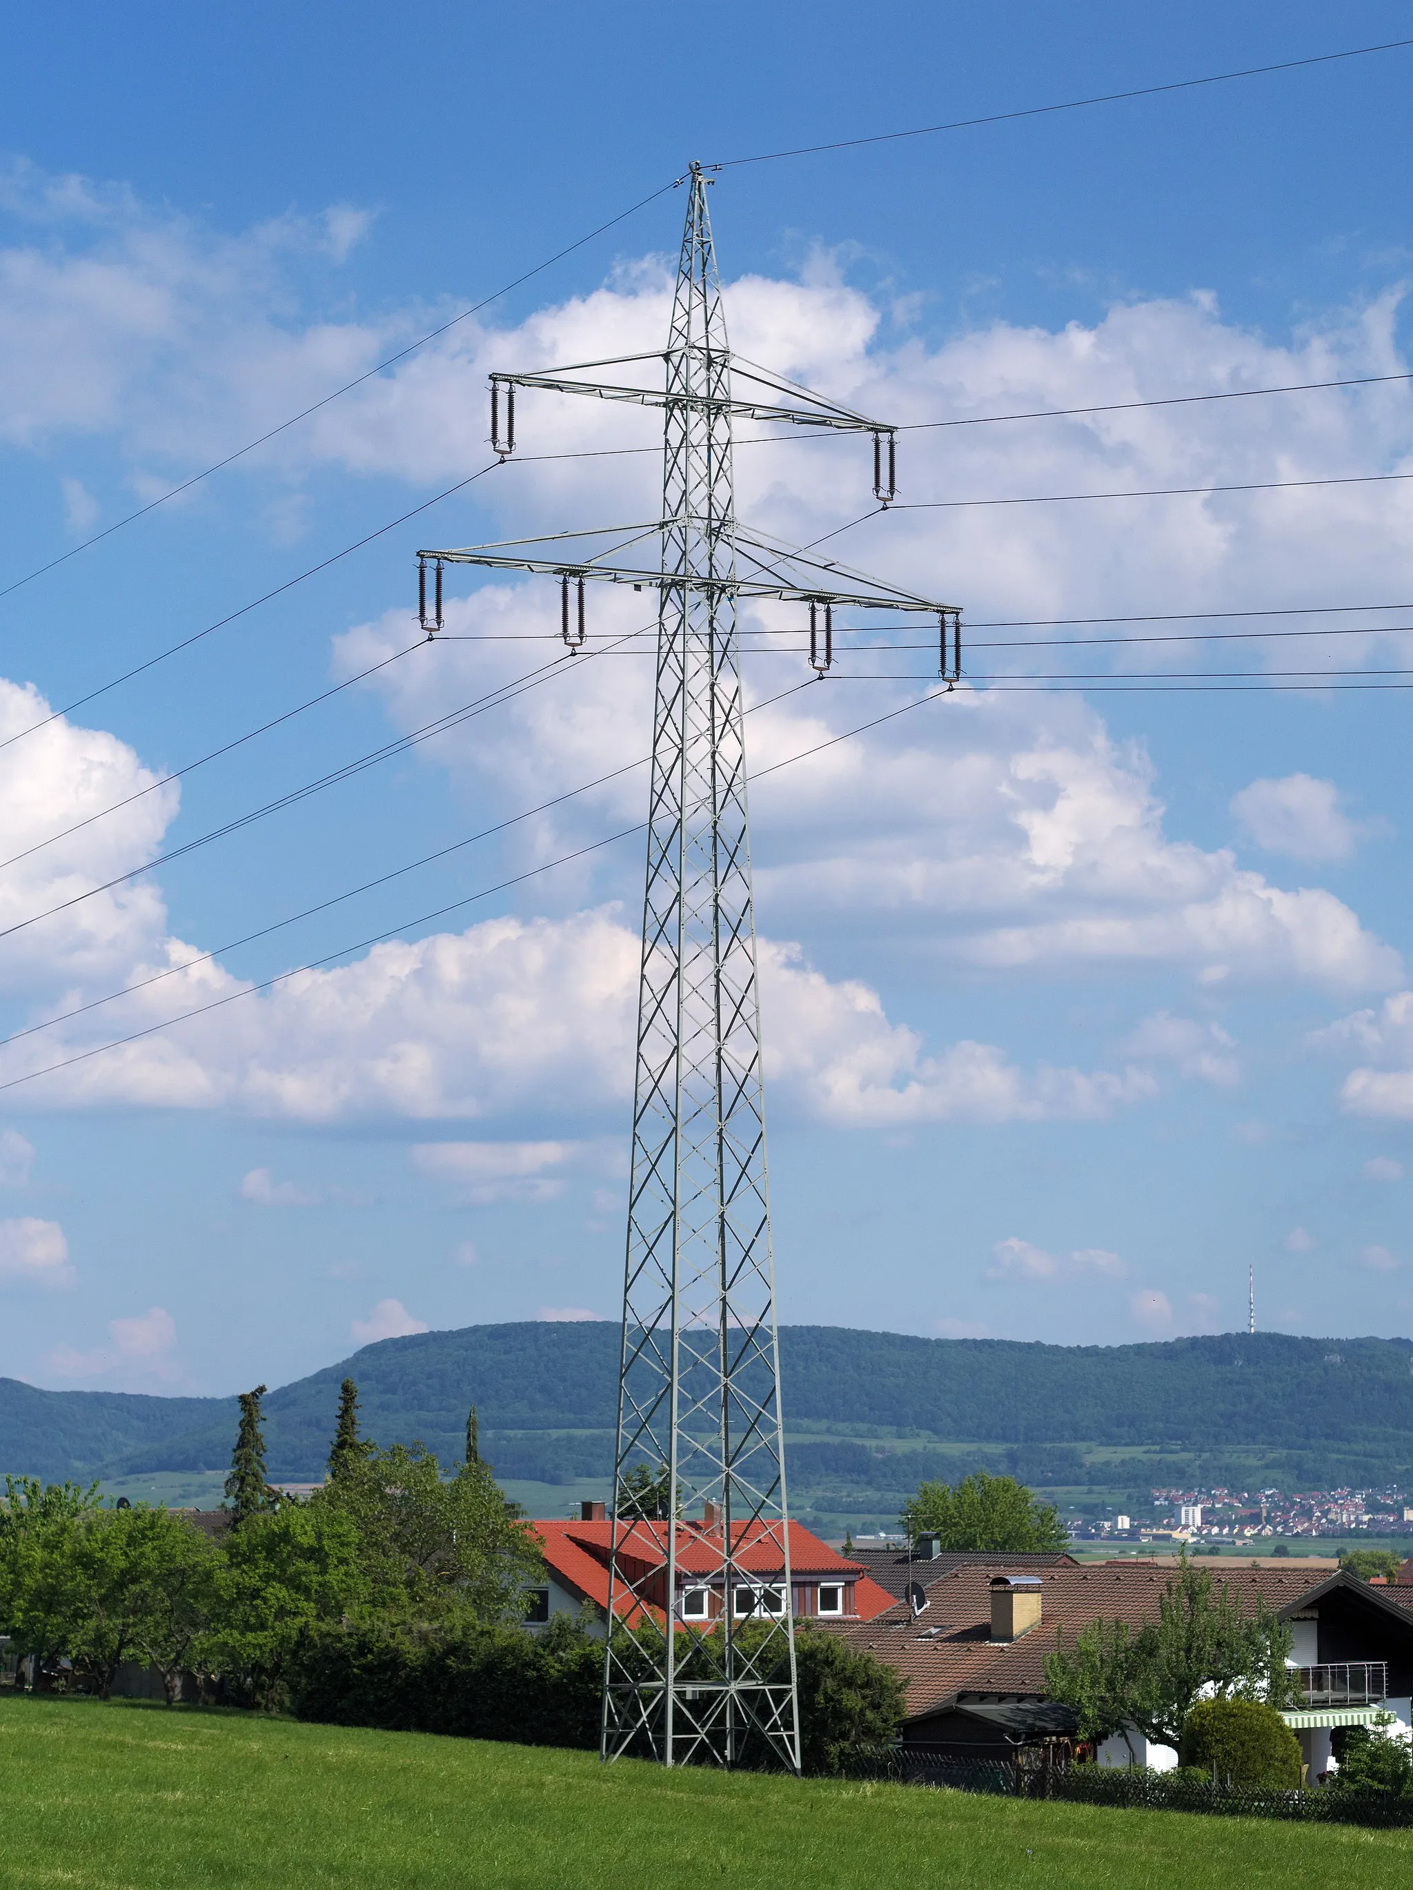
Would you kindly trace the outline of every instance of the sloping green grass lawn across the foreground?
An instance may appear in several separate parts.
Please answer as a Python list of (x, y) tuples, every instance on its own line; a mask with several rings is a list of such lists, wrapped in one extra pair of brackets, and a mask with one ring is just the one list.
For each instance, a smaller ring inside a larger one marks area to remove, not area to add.
[(604, 1769), (81, 1699), (0, 1701), (0, 1794), (6, 1890), (1324, 1890), (1413, 1869), (1413, 1831)]

